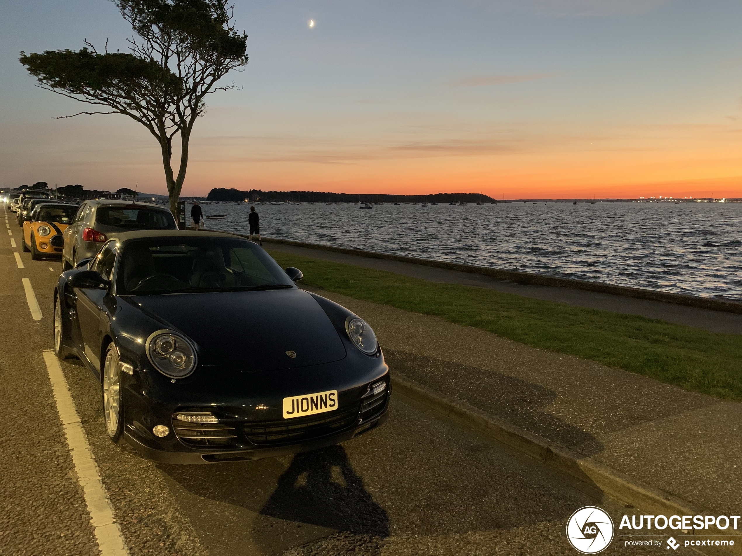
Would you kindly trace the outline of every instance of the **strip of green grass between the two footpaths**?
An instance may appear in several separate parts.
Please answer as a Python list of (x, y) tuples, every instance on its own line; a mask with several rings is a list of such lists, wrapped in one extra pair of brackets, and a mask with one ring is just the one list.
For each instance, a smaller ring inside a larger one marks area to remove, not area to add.
[(634, 315), (499, 291), (440, 284), (387, 271), (269, 253), (309, 285), (442, 317), (516, 342), (623, 368), (687, 390), (742, 400), (742, 335), (716, 334)]

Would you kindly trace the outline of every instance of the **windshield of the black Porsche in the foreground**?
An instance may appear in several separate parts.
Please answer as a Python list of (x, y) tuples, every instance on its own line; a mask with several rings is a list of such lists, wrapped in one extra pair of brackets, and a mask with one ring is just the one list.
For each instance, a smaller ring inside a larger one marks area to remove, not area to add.
[(116, 293), (179, 294), (293, 288), (255, 243), (220, 237), (130, 239), (119, 251)]

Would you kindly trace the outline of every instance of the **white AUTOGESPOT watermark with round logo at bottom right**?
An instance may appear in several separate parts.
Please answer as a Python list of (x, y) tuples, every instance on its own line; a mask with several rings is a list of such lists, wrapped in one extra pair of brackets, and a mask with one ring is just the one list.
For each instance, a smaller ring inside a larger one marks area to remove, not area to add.
[[(741, 536), (740, 526), (742, 517), (739, 515), (623, 515), (616, 531), (608, 513), (596, 506), (585, 506), (569, 518), (567, 539), (582, 554), (603, 552), (614, 535), (624, 537), (624, 546), (637, 548), (732, 547), (740, 542), (735, 538)], [(668, 529), (672, 529), (672, 534)]]

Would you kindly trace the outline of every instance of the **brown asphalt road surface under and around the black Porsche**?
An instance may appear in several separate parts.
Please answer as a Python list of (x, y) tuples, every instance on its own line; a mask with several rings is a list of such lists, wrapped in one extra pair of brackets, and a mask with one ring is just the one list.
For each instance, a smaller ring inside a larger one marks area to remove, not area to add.
[[(42, 357), (52, 347), (61, 267), (21, 253), (20, 230), (8, 222), (0, 238), (0, 555), (96, 555)], [(79, 361), (61, 367), (131, 555), (571, 555), (568, 516), (598, 503), (599, 493), (400, 396), (387, 424), (342, 446), (248, 463), (157, 464), (111, 444), (98, 383)], [(599, 503), (614, 518), (626, 511)], [(606, 553), (624, 552), (622, 544)]]

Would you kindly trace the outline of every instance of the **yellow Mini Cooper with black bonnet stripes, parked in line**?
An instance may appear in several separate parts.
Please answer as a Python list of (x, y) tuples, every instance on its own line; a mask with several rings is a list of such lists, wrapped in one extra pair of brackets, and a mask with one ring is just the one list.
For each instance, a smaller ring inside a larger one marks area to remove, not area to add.
[(30, 251), (35, 261), (42, 257), (62, 257), (62, 232), (75, 219), (78, 205), (44, 203), (36, 205), (23, 222), (23, 251)]

